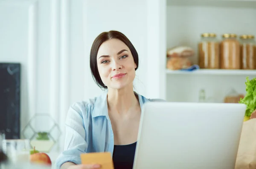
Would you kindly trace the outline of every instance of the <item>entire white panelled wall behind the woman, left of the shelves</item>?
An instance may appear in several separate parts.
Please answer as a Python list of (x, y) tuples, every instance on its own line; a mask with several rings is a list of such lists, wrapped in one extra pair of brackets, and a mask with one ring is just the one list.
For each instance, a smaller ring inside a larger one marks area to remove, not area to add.
[[(147, 64), (157, 57), (148, 52), (148, 41), (153, 40), (150, 45), (154, 46), (155, 32), (161, 31), (158, 14), (148, 24), (148, 13), (154, 15), (148, 8), (157, 0), (151, 2), (147, 6), (146, 0), (1, 1), (0, 62), (22, 63), (21, 129), (33, 115), (48, 113), (64, 132), (70, 104), (102, 92), (91, 77), (89, 53), (93, 40), (104, 31), (118, 30), (131, 40), (140, 59), (135, 90), (146, 97), (158, 97), (160, 85), (150, 95), (154, 79), (147, 74)], [(151, 87), (147, 89), (148, 82)], [(47, 124), (37, 122), (38, 128)], [(62, 146), (64, 135), (61, 140)]]

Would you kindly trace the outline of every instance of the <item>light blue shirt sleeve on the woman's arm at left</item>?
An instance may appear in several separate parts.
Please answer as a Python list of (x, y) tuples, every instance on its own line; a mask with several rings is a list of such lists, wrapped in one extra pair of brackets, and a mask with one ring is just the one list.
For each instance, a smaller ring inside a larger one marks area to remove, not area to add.
[(56, 169), (66, 162), (81, 163), (80, 154), (87, 149), (82, 109), (86, 109), (85, 106), (75, 103), (67, 112), (64, 151), (55, 161)]

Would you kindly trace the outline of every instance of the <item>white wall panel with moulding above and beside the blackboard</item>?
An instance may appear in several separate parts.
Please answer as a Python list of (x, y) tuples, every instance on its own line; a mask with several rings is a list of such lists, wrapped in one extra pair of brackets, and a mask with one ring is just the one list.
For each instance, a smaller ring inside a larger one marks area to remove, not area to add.
[[(35, 6), (32, 1), (0, 1), (0, 62), (21, 63), (21, 127), (36, 111)], [(18, 18), (18, 19), (17, 19)]]

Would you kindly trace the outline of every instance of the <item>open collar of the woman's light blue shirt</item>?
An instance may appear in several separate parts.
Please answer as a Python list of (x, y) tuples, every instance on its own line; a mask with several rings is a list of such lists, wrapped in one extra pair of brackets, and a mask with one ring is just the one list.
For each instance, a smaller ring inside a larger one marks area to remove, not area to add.
[[(106, 116), (109, 119), (108, 116), (108, 102), (107, 102), (107, 94), (108, 90), (105, 90), (102, 95), (96, 98), (93, 111), (92, 111), (92, 117), (98, 117), (98, 116)], [(136, 93), (137, 94), (137, 93)], [(148, 101), (145, 97), (142, 95), (138, 95), (139, 103), (140, 103), (140, 109), (142, 110), (143, 104)]]

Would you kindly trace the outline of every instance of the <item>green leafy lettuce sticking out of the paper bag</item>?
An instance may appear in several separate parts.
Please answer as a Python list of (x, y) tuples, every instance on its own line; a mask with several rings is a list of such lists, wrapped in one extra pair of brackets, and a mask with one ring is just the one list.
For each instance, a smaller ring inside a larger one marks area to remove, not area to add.
[(256, 109), (256, 77), (249, 80), (246, 77), (246, 95), (244, 98), (240, 98), (239, 103), (244, 103), (246, 105), (245, 116), (250, 117), (252, 112)]

